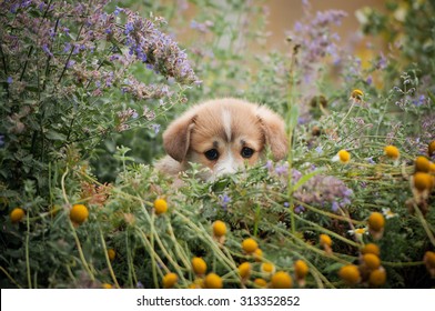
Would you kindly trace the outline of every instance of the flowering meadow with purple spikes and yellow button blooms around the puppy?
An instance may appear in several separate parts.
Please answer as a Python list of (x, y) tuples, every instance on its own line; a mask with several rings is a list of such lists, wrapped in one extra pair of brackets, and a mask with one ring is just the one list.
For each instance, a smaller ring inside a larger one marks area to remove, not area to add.
[[(357, 11), (366, 59), (302, 2), (282, 52), (263, 1), (1, 1), (0, 287), (434, 288), (435, 2)], [(220, 97), (283, 116), (287, 159), (155, 171)]]

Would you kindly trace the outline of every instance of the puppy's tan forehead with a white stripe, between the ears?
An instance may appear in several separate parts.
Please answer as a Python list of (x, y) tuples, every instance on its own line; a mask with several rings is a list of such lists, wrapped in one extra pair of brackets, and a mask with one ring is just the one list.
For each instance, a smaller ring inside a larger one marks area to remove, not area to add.
[(231, 142), (241, 137), (261, 136), (260, 120), (252, 104), (211, 102), (199, 107), (192, 139), (220, 138)]

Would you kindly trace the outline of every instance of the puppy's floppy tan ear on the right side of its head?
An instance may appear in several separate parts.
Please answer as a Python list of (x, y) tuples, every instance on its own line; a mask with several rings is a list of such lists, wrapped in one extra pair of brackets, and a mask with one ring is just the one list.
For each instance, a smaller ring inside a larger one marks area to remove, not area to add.
[(275, 161), (284, 159), (289, 150), (284, 120), (266, 107), (259, 107), (257, 117), (273, 158)]

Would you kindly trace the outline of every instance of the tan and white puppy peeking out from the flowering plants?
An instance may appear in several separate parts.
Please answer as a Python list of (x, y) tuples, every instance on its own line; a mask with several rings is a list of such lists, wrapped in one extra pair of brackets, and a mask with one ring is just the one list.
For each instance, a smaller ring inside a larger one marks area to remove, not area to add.
[(169, 156), (156, 169), (170, 175), (189, 169), (189, 163), (205, 168), (203, 180), (231, 174), (245, 164), (261, 160), (269, 146), (274, 160), (287, 152), (284, 121), (264, 106), (224, 98), (192, 107), (163, 133)]

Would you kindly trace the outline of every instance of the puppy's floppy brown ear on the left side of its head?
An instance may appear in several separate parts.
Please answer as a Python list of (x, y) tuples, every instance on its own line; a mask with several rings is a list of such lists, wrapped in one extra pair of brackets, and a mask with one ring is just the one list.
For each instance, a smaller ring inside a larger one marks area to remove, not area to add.
[(188, 153), (194, 120), (194, 114), (184, 114), (173, 121), (163, 133), (164, 150), (179, 162), (182, 162)]

